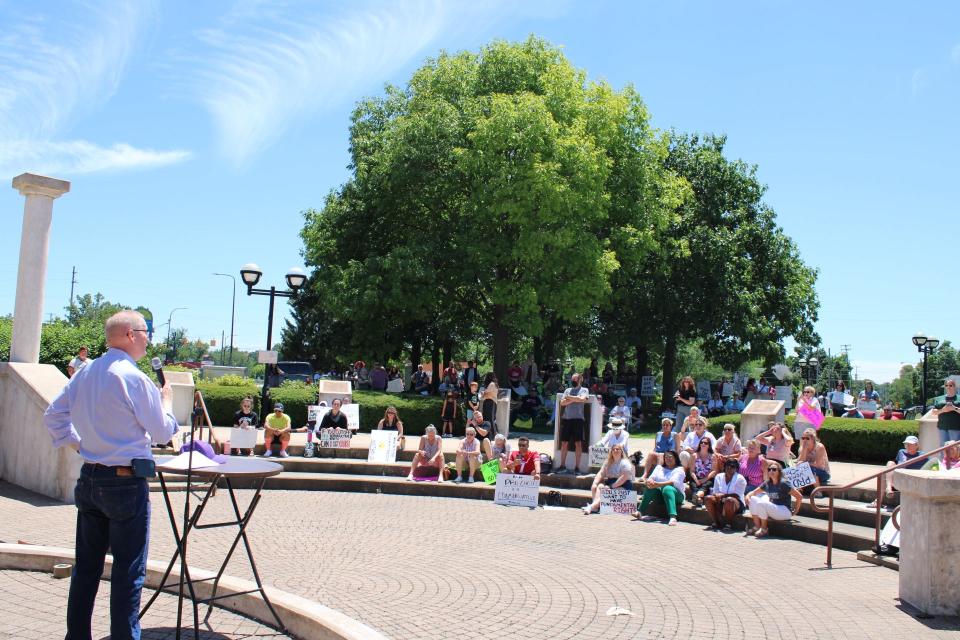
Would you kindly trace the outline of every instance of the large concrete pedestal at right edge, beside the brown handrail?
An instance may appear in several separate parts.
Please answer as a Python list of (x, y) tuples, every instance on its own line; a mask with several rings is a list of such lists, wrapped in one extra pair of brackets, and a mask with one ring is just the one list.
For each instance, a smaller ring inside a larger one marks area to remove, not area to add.
[(900, 490), (900, 599), (960, 615), (960, 474), (895, 471)]

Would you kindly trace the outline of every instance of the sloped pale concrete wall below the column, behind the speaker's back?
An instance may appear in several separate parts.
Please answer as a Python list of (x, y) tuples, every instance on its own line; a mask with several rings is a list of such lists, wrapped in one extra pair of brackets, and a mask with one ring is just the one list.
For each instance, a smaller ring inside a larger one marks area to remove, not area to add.
[(45, 496), (73, 502), (80, 456), (54, 449), (43, 412), (67, 384), (49, 364), (0, 362), (0, 478)]

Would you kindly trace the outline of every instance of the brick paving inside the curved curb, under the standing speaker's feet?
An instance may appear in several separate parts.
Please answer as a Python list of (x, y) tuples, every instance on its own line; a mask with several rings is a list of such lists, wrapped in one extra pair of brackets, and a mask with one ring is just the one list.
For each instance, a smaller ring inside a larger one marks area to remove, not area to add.
[[(67, 632), (64, 606), (70, 580), (57, 580), (47, 573), (33, 571), (0, 571), (0, 638), (17, 640), (50, 640)], [(144, 601), (149, 596), (144, 592)], [(102, 582), (93, 612), (93, 637), (110, 635), (110, 583)], [(160, 594), (141, 621), (143, 640), (168, 640), (176, 636), (172, 621), (177, 617), (176, 596)], [(190, 609), (184, 611), (187, 629), (183, 637), (193, 638)], [(202, 640), (247, 640), (290, 636), (274, 631), (255, 620), (214, 609), (208, 625), (200, 624)]]

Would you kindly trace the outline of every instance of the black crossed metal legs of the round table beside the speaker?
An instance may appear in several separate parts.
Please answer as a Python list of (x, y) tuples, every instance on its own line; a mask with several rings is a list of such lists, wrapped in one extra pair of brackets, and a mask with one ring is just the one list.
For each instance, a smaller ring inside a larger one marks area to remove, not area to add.
[[(203, 604), (207, 605), (207, 613), (203, 617), (203, 621), (206, 622), (210, 618), (210, 613), (213, 611), (213, 603), (222, 598), (229, 598), (232, 596), (245, 595), (249, 593), (259, 593), (263, 598), (264, 603), (267, 605), (267, 608), (270, 610), (270, 614), (273, 616), (273, 619), (277, 623), (277, 629), (281, 632), (286, 632), (286, 627), (283, 622), (280, 620), (280, 616), (277, 615), (276, 610), (273, 608), (273, 603), (270, 602), (270, 598), (267, 596), (266, 591), (263, 588), (263, 582), (260, 580), (260, 572), (257, 570), (257, 562), (253, 558), (253, 550), (250, 548), (250, 540), (247, 538), (247, 525), (250, 523), (250, 518), (253, 516), (253, 512), (256, 510), (257, 505), (260, 503), (261, 492), (263, 491), (263, 485), (266, 482), (266, 478), (260, 478), (257, 483), (256, 491), (253, 494), (253, 498), (250, 500), (250, 504), (247, 507), (246, 512), (240, 513), (240, 505), (237, 503), (237, 496), (233, 491), (233, 484), (230, 482), (230, 478), (227, 476), (216, 476), (210, 478), (210, 486), (207, 488), (206, 493), (203, 495), (203, 499), (200, 501), (200, 504), (196, 506), (193, 513), (190, 515), (187, 522), (183, 527), (183, 535), (180, 535), (180, 530), (177, 527), (176, 516), (173, 513), (173, 505), (170, 503), (170, 494), (167, 491), (167, 484), (163, 479), (163, 473), (159, 470), (157, 471), (157, 477), (160, 480), (160, 487), (163, 490), (163, 501), (167, 507), (167, 516), (170, 519), (170, 527), (173, 529), (173, 537), (176, 540), (177, 550), (174, 552), (173, 557), (170, 558), (170, 563), (167, 565), (167, 570), (163, 574), (163, 578), (160, 579), (160, 584), (157, 586), (157, 589), (154, 591), (153, 595), (150, 596), (150, 599), (147, 601), (147, 604), (143, 606), (140, 610), (140, 618), (143, 618), (144, 614), (157, 599), (157, 596), (160, 595), (160, 592), (167, 585), (167, 579), (170, 577), (170, 572), (173, 571), (173, 566), (176, 564), (177, 559), (180, 559), (180, 584), (178, 588), (178, 603), (177, 603), (177, 633), (176, 637), (179, 640), (181, 633), (181, 621), (183, 618), (183, 599), (184, 599), (184, 587), (189, 592), (189, 597), (191, 605), (193, 607), (193, 636), (194, 640), (199, 640), (200, 638), (200, 606)], [(211, 524), (199, 524), (200, 516), (203, 514), (204, 509), (207, 506), (207, 501), (210, 500), (210, 497), (213, 495), (214, 490), (217, 486), (217, 482), (223, 478), (227, 484), (227, 491), (230, 494), (230, 504), (233, 507), (233, 513), (236, 517), (236, 520), (227, 520), (224, 522), (214, 522)], [(207, 478), (204, 478), (206, 480)], [(190, 482), (188, 478), (187, 482), (187, 492), (190, 492)], [(215, 576), (209, 578), (198, 578), (196, 580), (190, 577), (190, 567), (186, 561), (186, 547), (187, 547), (187, 537), (190, 535), (190, 532), (193, 529), (213, 529), (216, 527), (229, 527), (236, 526), (238, 528), (237, 535), (233, 538), (233, 543), (230, 545), (230, 550), (227, 552), (226, 557), (223, 560), (223, 563), (220, 565), (220, 569), (217, 571)], [(223, 577), (223, 572), (227, 568), (230, 559), (233, 557), (234, 552), (237, 549), (237, 545), (240, 544), (240, 541), (243, 541), (244, 550), (247, 553), (247, 559), (250, 561), (250, 568), (253, 571), (253, 578), (257, 584), (256, 589), (250, 589), (249, 591), (241, 591), (238, 593), (228, 593), (225, 595), (217, 595), (217, 588), (220, 584), (220, 578)], [(196, 590), (193, 585), (198, 582), (209, 582), (213, 580), (213, 588), (211, 589), (210, 596), (207, 598), (197, 597)]]

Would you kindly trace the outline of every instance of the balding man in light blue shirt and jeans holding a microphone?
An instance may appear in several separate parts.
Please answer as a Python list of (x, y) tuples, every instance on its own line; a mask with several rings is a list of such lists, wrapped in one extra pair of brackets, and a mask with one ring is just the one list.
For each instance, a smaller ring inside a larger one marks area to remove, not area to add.
[(140, 638), (140, 591), (150, 532), (147, 478), (151, 442), (177, 431), (169, 386), (158, 390), (137, 368), (147, 353), (147, 323), (121, 311), (104, 327), (108, 351), (74, 375), (47, 408), (45, 422), (57, 448), (83, 457), (74, 490), (76, 563), (67, 602), (67, 640), (89, 640), (90, 619), (104, 556), (113, 554), (110, 637)]

